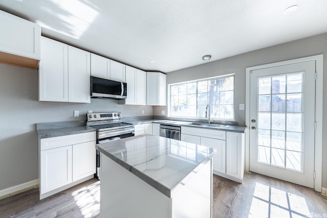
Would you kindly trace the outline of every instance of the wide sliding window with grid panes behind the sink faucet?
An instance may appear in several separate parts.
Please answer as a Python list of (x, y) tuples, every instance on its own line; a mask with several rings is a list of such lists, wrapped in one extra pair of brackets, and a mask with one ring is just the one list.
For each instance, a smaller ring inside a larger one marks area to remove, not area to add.
[(234, 119), (234, 75), (170, 85), (170, 116)]

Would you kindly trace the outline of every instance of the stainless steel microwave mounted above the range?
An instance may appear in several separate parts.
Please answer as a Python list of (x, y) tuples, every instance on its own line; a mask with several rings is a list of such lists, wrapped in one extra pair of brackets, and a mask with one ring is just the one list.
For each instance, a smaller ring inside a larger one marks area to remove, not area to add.
[(91, 76), (91, 98), (126, 99), (127, 83)]

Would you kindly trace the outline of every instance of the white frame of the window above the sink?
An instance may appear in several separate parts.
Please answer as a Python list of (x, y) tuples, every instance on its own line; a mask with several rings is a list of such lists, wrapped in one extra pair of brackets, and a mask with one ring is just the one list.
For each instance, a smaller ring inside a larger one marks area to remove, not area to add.
[[(176, 83), (171, 83), (168, 84), (168, 117), (171, 118), (186, 118), (186, 119), (197, 119), (197, 120), (207, 120), (207, 118), (203, 118), (203, 117), (198, 117), (198, 99), (196, 99), (196, 117), (182, 117), (182, 116), (172, 116), (171, 115), (171, 86), (174, 85), (183, 85), (183, 84), (188, 84), (188, 83), (193, 83), (196, 82), (198, 84), (198, 82), (201, 81), (209, 81), (209, 80), (213, 80), (213, 79), (222, 79), (222, 78), (227, 78), (227, 77), (233, 77), (233, 118), (229, 118), (229, 119), (223, 119), (223, 118), (215, 118), (215, 120), (221, 120), (221, 121), (235, 121), (235, 73), (232, 74), (226, 74), (226, 75), (222, 75), (222, 76), (214, 76), (214, 77), (208, 77), (208, 78), (202, 78), (202, 79), (196, 79), (196, 80), (189, 80), (189, 81), (183, 81), (183, 82), (176, 82)], [(198, 98), (198, 85), (196, 85), (196, 98)]]

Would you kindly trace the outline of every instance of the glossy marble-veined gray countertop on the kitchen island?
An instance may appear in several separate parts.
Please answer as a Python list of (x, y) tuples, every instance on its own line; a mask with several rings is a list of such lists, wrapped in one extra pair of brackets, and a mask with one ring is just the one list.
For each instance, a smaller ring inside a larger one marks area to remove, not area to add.
[(216, 154), (214, 148), (152, 135), (109, 141), (96, 147), (168, 198), (192, 177), (192, 171), (201, 170)]

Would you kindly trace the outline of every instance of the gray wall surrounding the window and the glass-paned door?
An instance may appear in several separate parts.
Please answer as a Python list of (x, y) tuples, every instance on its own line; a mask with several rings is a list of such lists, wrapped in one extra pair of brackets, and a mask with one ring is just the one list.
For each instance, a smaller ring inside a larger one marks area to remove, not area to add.
[[(327, 33), (174, 71), (167, 74), (167, 84), (235, 73), (235, 120), (239, 125), (245, 125), (245, 111), (239, 110), (239, 104), (245, 103), (245, 69), (247, 67), (318, 54), (324, 55), (323, 95), (327, 96)], [(165, 106), (155, 106), (153, 115), (161, 116), (161, 110), (166, 110), (167, 113)], [(327, 100), (324, 100), (323, 120), (326, 120), (326, 118)], [(322, 139), (322, 187), (327, 187), (326, 140), (327, 122), (324, 122)]]

